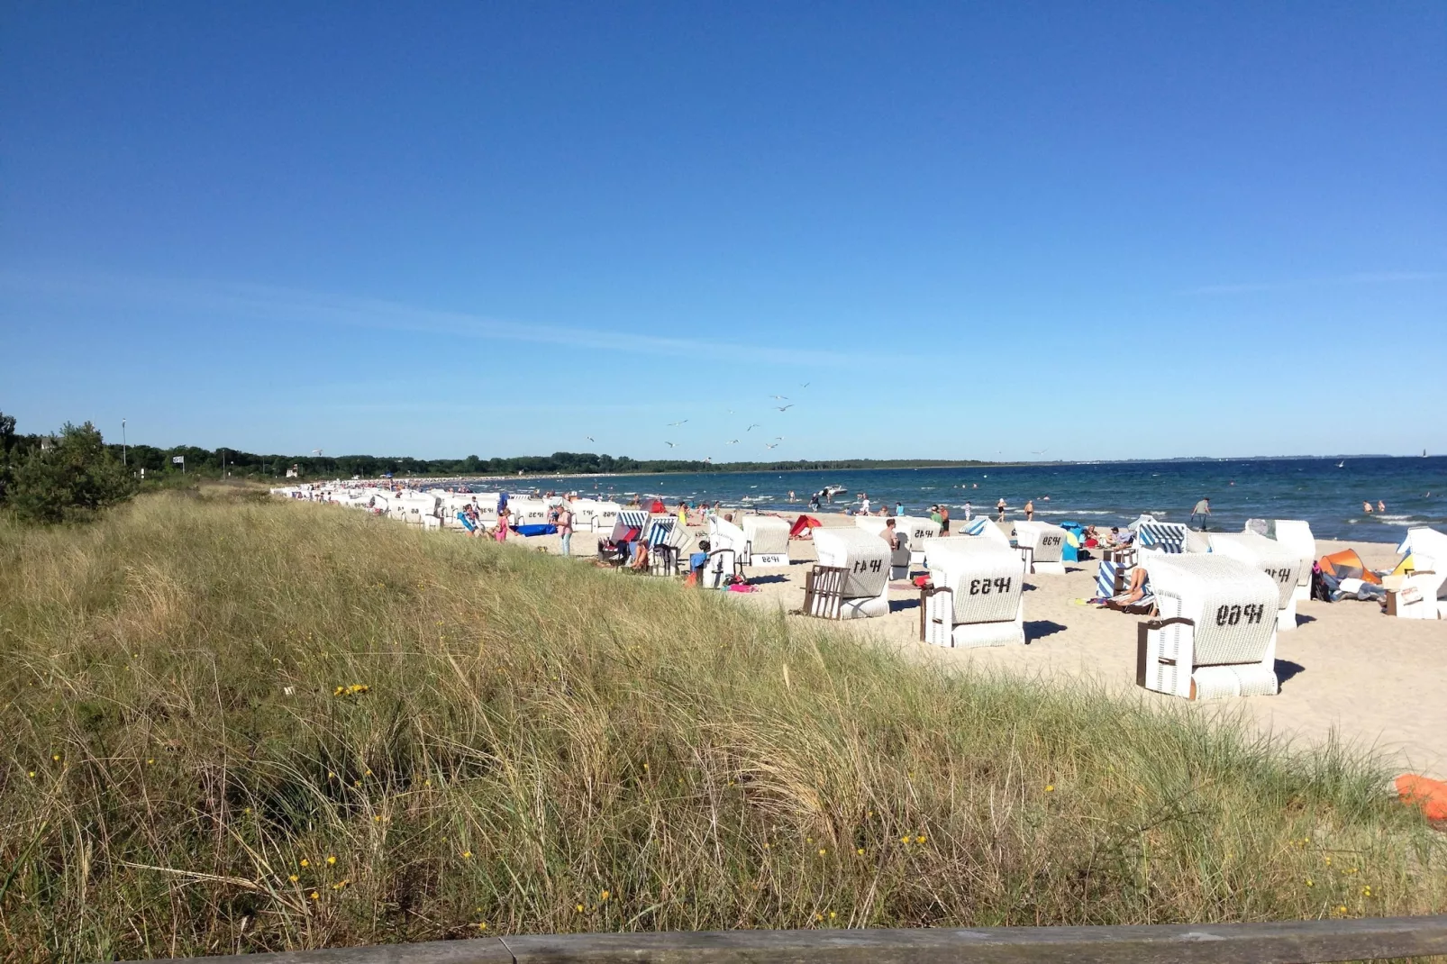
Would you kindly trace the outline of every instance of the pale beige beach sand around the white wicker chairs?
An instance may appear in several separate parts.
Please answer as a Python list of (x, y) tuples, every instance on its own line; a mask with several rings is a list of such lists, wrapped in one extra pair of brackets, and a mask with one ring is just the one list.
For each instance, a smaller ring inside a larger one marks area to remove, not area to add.
[[(841, 514), (818, 514), (826, 527), (854, 525)], [(1013, 520), (1011, 520), (1013, 523)], [(1009, 528), (1009, 524), (1006, 525)], [(573, 537), (573, 554), (589, 557), (599, 534)], [(509, 543), (557, 551), (557, 537), (511, 538)], [(1317, 540), (1317, 554), (1356, 549), (1375, 569), (1396, 563), (1393, 544)], [(813, 543), (790, 543), (787, 569), (752, 569), (755, 593), (734, 593), (739, 605), (797, 612), (805, 573), (816, 559)], [(916, 573), (923, 572), (916, 569)], [(621, 576), (628, 578), (628, 576)], [(1263, 732), (1295, 745), (1321, 744), (1336, 735), (1346, 744), (1380, 754), (1393, 769), (1447, 779), (1447, 624), (1398, 620), (1375, 602), (1298, 605), (1298, 627), (1279, 634), (1276, 672), (1281, 693), (1189, 702), (1134, 686), (1136, 624), (1143, 617), (1110, 612), (1079, 601), (1094, 595), (1095, 562), (1066, 563), (1064, 576), (1033, 575), (1026, 582), (1026, 646), (942, 648), (919, 640), (919, 592), (896, 582), (890, 614), (838, 622), (912, 659), (943, 667), (984, 667), (1045, 680), (1079, 679), (1146, 701), (1189, 706), (1202, 714), (1242, 714)], [(790, 620), (809, 620), (789, 615)]]

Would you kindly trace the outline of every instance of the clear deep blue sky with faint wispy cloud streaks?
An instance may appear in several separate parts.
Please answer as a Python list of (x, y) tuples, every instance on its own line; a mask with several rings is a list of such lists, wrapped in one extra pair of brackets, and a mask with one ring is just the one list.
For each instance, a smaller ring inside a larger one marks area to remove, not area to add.
[(282, 453), (1443, 452), (1444, 91), (1437, 1), (6, 0), (0, 410)]

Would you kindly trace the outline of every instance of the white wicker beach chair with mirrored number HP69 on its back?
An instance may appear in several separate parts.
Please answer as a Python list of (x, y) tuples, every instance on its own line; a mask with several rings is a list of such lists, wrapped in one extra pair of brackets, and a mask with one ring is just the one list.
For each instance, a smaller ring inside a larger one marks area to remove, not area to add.
[(1152, 553), (1159, 618), (1142, 622), (1136, 683), (1187, 699), (1276, 693), (1278, 583), (1236, 559)]

